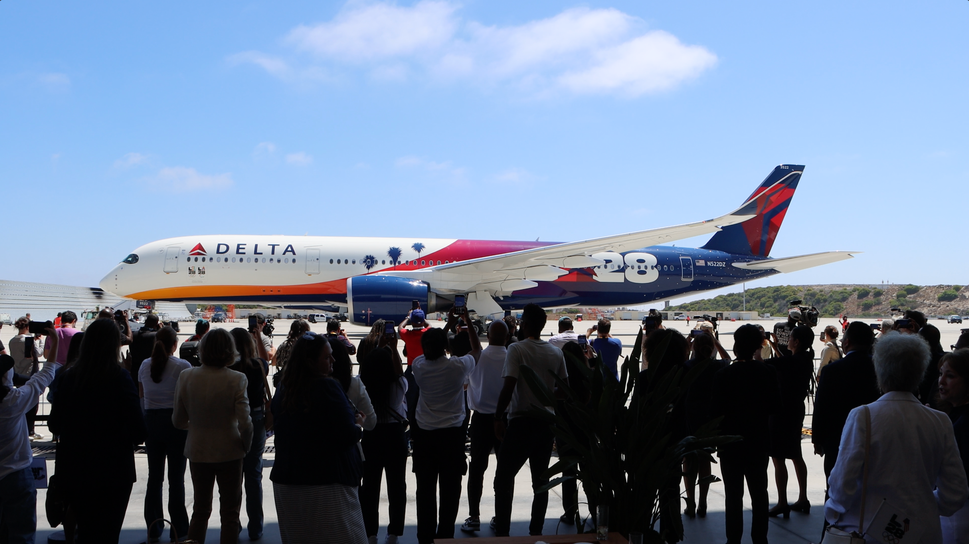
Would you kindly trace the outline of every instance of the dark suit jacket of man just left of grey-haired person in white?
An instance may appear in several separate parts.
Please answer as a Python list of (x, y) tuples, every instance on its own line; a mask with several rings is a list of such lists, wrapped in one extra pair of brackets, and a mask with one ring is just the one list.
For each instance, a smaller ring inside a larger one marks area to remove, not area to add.
[(814, 394), (811, 441), (837, 454), (848, 413), (881, 397), (871, 354), (852, 351), (821, 369)]

